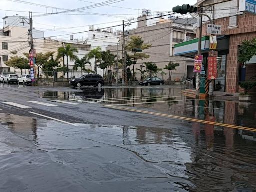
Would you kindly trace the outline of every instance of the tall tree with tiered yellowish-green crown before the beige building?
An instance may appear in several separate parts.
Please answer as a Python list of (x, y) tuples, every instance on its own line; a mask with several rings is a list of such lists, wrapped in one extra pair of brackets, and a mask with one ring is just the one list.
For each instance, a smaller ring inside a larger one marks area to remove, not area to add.
[[(128, 41), (128, 44), (126, 46), (126, 49), (127, 50), (132, 50), (133, 48), (139, 48), (139, 49), (145, 50), (145, 49), (150, 48), (151, 46), (152, 46), (151, 44), (144, 44), (144, 41), (142, 40), (142, 37), (140, 37), (140, 36), (131, 36), (130, 41)], [(146, 53), (143, 53), (143, 52), (134, 52), (133, 55), (130, 54), (129, 56), (133, 60), (132, 64), (133, 64), (133, 78), (134, 78), (135, 77), (134, 68), (135, 68), (135, 64), (137, 63), (137, 61), (139, 59), (143, 60), (145, 58), (149, 58), (150, 56), (147, 55)]]

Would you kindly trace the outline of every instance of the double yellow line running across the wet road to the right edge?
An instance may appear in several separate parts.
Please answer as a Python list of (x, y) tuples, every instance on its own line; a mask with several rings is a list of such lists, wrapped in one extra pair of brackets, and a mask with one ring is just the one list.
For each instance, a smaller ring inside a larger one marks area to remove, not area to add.
[(249, 127), (244, 127), (244, 126), (224, 124), (224, 123), (220, 123), (220, 122), (211, 122), (211, 121), (207, 121), (207, 120), (187, 118), (187, 117), (183, 117), (183, 116), (175, 116), (175, 115), (169, 115), (169, 114), (163, 114), (163, 113), (157, 113), (157, 112), (150, 112), (150, 111), (144, 111), (144, 110), (137, 110), (137, 109), (131, 109), (131, 108), (122, 108), (122, 107), (118, 107), (118, 106), (106, 106), (106, 107), (113, 108), (113, 109), (126, 110), (126, 111), (132, 111), (132, 112), (140, 112), (140, 113), (152, 114), (152, 115), (156, 115), (156, 116), (170, 117), (170, 118), (182, 119), (182, 120), (186, 120), (186, 121), (200, 122), (200, 123), (204, 123), (204, 124), (211, 124), (211, 125), (217, 125), (217, 126), (223, 126), (223, 127), (228, 127), (228, 128), (235, 128), (235, 129), (241, 129), (241, 130), (248, 130), (248, 131), (256, 132), (256, 129), (249, 128)]

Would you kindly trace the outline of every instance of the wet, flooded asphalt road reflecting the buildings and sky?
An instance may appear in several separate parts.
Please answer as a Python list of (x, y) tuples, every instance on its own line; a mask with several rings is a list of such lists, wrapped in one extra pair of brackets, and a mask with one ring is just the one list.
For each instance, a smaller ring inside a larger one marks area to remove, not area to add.
[(255, 103), (180, 91), (0, 84), (0, 191), (256, 191)]

